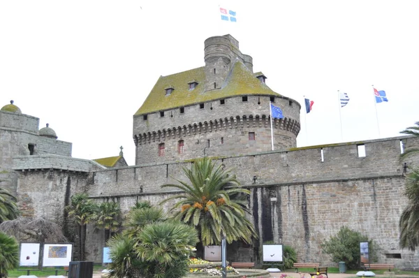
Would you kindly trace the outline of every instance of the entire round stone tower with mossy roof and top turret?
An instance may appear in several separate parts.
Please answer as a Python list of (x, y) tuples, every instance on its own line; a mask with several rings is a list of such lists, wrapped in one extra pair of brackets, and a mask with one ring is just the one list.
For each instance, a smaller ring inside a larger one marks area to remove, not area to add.
[(284, 113), (273, 122), (274, 149), (296, 146), (300, 104), (253, 73), (251, 56), (233, 36), (207, 38), (204, 60), (203, 67), (161, 76), (133, 116), (136, 165), (268, 152), (270, 102)]

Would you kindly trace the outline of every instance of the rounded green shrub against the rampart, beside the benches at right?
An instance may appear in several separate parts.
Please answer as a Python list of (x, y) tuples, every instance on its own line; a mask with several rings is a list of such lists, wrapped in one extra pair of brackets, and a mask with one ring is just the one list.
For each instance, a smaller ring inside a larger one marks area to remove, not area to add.
[(376, 261), (376, 245), (367, 236), (343, 226), (336, 236), (321, 244), (323, 251), (332, 256), (332, 261), (344, 261), (348, 269), (360, 267), (360, 242), (368, 242), (369, 260)]

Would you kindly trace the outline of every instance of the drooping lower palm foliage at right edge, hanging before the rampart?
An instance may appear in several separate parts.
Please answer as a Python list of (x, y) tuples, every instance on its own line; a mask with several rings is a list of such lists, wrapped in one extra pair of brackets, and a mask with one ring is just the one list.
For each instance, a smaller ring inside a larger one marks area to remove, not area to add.
[(414, 251), (419, 246), (419, 168), (406, 175), (404, 195), (408, 205), (399, 220), (399, 244)]

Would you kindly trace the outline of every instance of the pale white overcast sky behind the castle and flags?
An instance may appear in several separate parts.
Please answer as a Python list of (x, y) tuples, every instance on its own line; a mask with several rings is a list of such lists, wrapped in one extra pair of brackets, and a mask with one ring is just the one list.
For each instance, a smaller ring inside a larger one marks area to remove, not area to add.
[[(237, 22), (221, 21), (220, 7)], [(49, 123), (73, 143), (73, 157), (117, 156), (122, 145), (133, 165), (133, 115), (156, 80), (204, 66), (205, 39), (231, 34), (271, 89), (302, 104), (298, 147), (399, 136), (419, 121), (418, 7), (416, 0), (3, 0), (0, 107), (13, 99), (40, 128)], [(374, 104), (372, 85), (388, 103)], [(338, 90), (350, 97), (340, 116)], [(314, 101), (309, 114), (303, 96)]]

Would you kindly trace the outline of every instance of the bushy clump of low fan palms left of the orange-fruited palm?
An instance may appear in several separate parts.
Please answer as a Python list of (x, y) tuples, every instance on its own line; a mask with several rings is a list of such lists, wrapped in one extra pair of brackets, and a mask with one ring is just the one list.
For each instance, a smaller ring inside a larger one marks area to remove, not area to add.
[(191, 246), (198, 242), (194, 228), (168, 221), (156, 207), (133, 207), (126, 230), (108, 241), (110, 277), (179, 278), (186, 275)]

